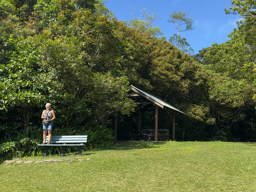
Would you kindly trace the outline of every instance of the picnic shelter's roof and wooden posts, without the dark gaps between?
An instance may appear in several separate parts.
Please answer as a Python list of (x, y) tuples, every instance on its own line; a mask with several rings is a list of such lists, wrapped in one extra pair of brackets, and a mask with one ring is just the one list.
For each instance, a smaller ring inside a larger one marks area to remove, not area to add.
[[(178, 108), (170, 105), (166, 101), (147, 93), (146, 91), (143, 91), (141, 89), (138, 89), (134, 87), (133, 85), (130, 85), (130, 88), (128, 90), (128, 97), (130, 97), (132, 100), (134, 100), (137, 104), (137, 107), (135, 108), (135, 111), (138, 111), (138, 131), (141, 131), (141, 111), (150, 107), (155, 107), (155, 131), (154, 136), (155, 141), (158, 140), (158, 109), (163, 109), (166, 111), (169, 111), (173, 114), (173, 121), (172, 121), (172, 140), (175, 140), (175, 115), (186, 115), (186, 113), (182, 112)], [(117, 136), (117, 117), (115, 118), (115, 135)]]

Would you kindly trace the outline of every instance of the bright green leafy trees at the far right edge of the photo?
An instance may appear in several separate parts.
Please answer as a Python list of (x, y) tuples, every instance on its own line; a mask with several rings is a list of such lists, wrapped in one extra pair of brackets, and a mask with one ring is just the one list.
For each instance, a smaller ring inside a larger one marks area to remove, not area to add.
[[(233, 136), (255, 134), (255, 2), (231, 1), (234, 7), (228, 14), (244, 18), (229, 35), (230, 40), (213, 44), (204, 55), (204, 61), (216, 77), (210, 86), (210, 99), (215, 103), (218, 129), (229, 129)], [(250, 132), (248, 134), (248, 132)], [(227, 132), (226, 132), (227, 133)]]

